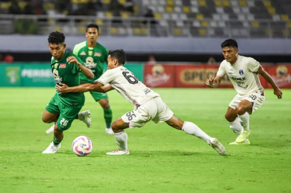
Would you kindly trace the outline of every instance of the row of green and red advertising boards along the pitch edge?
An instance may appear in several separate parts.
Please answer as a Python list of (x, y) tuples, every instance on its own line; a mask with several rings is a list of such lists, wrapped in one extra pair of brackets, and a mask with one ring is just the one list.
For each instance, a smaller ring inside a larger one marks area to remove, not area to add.
[[(291, 63), (261, 64), (281, 89), (291, 89)], [(150, 88), (207, 88), (206, 80), (215, 77), (219, 64), (127, 62), (125, 67)], [(104, 69), (107, 65), (104, 64)], [(272, 88), (262, 77), (264, 88)], [(10, 63), (0, 65), (1, 87), (54, 87), (50, 63)], [(224, 77), (220, 88), (233, 88)]]

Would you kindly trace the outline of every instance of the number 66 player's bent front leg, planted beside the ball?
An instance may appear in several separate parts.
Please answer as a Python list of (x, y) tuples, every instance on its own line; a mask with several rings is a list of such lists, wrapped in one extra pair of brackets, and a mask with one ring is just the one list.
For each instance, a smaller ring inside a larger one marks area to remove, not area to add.
[(129, 149), (127, 146), (128, 134), (124, 129), (129, 128), (128, 124), (125, 123), (121, 118), (118, 118), (112, 123), (112, 130), (114, 132), (114, 137), (119, 148), (112, 152), (106, 153), (107, 155), (128, 155)]

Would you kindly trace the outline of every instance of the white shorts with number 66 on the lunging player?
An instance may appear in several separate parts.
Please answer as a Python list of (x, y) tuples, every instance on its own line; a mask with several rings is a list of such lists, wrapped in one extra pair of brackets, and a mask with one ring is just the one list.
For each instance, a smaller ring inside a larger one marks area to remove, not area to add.
[(133, 129), (144, 126), (150, 120), (155, 123), (167, 121), (173, 115), (173, 111), (162, 101), (161, 97), (154, 97), (145, 104), (135, 107), (133, 111), (127, 112), (121, 119), (129, 125), (130, 129)]

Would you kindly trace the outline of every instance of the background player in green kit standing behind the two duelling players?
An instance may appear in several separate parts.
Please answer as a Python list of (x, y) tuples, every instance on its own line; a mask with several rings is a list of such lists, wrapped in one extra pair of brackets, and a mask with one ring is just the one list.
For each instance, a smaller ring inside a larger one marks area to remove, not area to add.
[[(94, 78), (87, 78), (80, 74), (80, 82), (91, 83), (98, 79), (104, 71), (104, 63), (107, 63), (108, 49), (97, 42), (99, 37), (99, 27), (96, 24), (89, 24), (85, 33), (87, 41), (75, 45), (73, 53), (77, 55), (87, 67), (94, 73)], [(109, 105), (109, 99), (106, 93), (90, 92), (94, 100), (97, 101), (103, 108), (104, 119), (106, 122), (105, 131), (107, 134), (113, 134), (111, 129), (112, 110)]]

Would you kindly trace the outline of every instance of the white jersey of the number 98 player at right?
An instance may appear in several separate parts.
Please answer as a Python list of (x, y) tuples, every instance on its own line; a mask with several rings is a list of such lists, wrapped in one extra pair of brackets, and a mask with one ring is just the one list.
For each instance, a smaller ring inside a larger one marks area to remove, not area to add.
[(223, 60), (216, 75), (223, 77), (227, 74), (234, 89), (242, 96), (251, 92), (262, 94), (264, 88), (257, 74), (259, 66), (259, 62), (253, 58), (238, 56), (238, 60), (233, 65)]

